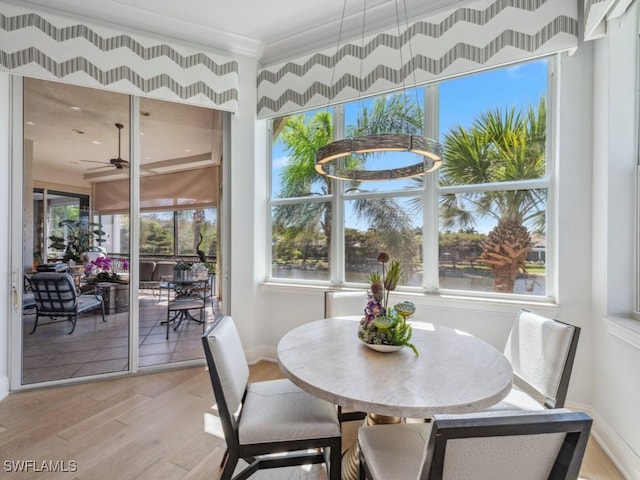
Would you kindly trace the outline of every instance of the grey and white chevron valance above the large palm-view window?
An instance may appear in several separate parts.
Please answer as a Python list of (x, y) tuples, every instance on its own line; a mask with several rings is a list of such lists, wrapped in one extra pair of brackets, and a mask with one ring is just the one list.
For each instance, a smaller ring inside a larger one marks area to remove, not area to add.
[[(482, 0), (409, 26), (262, 69), (258, 117), (354, 100), (575, 49), (575, 0)], [(400, 65), (400, 58), (403, 65)]]

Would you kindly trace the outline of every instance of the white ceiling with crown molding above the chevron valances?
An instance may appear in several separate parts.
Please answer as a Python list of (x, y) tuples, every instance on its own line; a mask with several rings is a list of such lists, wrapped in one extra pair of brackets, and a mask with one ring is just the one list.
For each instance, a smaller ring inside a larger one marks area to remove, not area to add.
[(336, 45), (339, 34), (343, 39), (361, 36), (363, 11), (364, 28), (372, 32), (469, 0), (22, 0), (20, 3), (252, 56), (266, 65)]

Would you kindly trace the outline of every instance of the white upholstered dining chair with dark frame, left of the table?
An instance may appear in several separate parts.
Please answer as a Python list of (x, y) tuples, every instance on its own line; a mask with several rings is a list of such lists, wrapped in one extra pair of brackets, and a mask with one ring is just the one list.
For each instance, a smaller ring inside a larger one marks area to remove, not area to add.
[[(227, 443), (221, 480), (322, 462), (327, 463), (329, 480), (340, 479), (342, 437), (334, 405), (288, 379), (248, 383), (249, 367), (229, 316), (218, 317), (202, 343)], [(233, 477), (240, 459), (249, 465)]]

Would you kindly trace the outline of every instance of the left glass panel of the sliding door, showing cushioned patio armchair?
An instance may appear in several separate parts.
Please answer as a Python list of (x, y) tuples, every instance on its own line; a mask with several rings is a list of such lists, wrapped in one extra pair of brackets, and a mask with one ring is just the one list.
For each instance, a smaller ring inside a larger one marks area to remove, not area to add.
[[(127, 371), (128, 207), (116, 224), (95, 210), (92, 191), (96, 182), (128, 182), (129, 169), (111, 159), (128, 152), (128, 127), (116, 124), (126, 126), (129, 97), (25, 78), (23, 115), (22, 383)], [(74, 292), (59, 293), (62, 273)], [(49, 292), (33, 291), (36, 281)], [(98, 298), (104, 317), (100, 306), (77, 307)]]

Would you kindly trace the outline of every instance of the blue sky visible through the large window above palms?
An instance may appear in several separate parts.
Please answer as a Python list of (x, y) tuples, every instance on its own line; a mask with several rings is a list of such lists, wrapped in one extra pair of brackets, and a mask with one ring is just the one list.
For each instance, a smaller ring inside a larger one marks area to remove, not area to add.
[[(418, 101), (422, 102), (423, 94), (421, 89), (419, 91)], [(546, 59), (443, 81), (440, 83), (440, 140), (452, 127), (458, 125), (469, 127), (475, 118), (490, 109), (505, 110), (512, 107), (524, 109), (535, 106), (542, 97), (546, 96), (546, 91)], [(407, 90), (407, 95), (415, 94)], [(368, 104), (371, 99), (364, 99), (362, 102)], [(345, 108), (347, 124), (357, 115), (358, 108), (356, 104)], [(391, 157), (386, 157), (385, 160), (389, 161), (389, 158)], [(274, 144), (272, 172), (274, 194), (277, 194), (280, 172), (287, 161), (287, 154), (282, 145)], [(415, 161), (414, 157), (403, 164), (407, 165)], [(408, 184), (406, 180), (368, 182), (368, 185), (363, 183), (361, 188), (384, 191), (402, 188), (404, 186), (402, 182)], [(347, 222), (351, 224), (349, 226), (359, 223), (353, 220), (351, 222), (347, 220)], [(357, 226), (366, 228), (364, 225)]]

